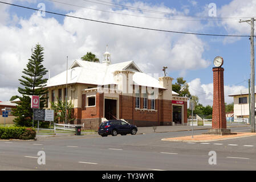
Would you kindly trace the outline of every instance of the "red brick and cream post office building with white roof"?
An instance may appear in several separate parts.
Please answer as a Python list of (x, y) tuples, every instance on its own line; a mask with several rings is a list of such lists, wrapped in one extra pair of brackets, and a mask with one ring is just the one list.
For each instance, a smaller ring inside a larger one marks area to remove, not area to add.
[(155, 77), (134, 61), (111, 64), (109, 52), (102, 63), (78, 59), (49, 78), (47, 107), (50, 101), (67, 99), (74, 104), (74, 123), (91, 129), (105, 119), (125, 119), (137, 126), (186, 125), (188, 98), (172, 91), (173, 78)]

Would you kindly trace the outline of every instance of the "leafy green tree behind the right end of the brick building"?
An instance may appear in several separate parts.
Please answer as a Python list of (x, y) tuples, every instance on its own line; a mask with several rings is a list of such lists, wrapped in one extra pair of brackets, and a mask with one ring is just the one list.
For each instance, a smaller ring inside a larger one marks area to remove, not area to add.
[(186, 83), (186, 80), (183, 80), (183, 77), (178, 77), (177, 82), (172, 84), (172, 90), (177, 92), (181, 97), (191, 98), (191, 94), (189, 92), (189, 85)]

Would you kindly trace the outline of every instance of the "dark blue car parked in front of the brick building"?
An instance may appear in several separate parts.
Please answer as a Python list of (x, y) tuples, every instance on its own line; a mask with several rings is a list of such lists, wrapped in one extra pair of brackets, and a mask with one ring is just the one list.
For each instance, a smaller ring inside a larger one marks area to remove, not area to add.
[(102, 137), (107, 137), (107, 135), (116, 136), (117, 134), (135, 135), (137, 131), (137, 126), (131, 125), (123, 120), (109, 120), (101, 123), (98, 134)]

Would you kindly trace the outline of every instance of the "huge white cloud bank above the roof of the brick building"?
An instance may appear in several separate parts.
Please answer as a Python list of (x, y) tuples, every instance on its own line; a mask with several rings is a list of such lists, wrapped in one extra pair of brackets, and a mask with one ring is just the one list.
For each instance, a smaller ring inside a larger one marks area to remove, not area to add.
[[(136, 2), (132, 6), (155, 11), (184, 13), (169, 9), (164, 5), (151, 6), (143, 2)], [(105, 9), (113, 11), (111, 7), (105, 7)], [(147, 13), (132, 10), (116, 10), (116, 12), (147, 15)], [(180, 23), (165, 19), (122, 16), (82, 8), (68, 15), (162, 30), (197, 31), (202, 29), (200, 22)], [(164, 15), (158, 16), (166, 18)], [(29, 19), (15, 16), (13, 21), (18, 22), (19, 27), (13, 24), (0, 25), (0, 80), (4, 80), (1, 82), (1, 88), (21, 86), (18, 79), (21, 78), (22, 70), (30, 58), (31, 48), (37, 43), (44, 47), (43, 64), (47, 69), (51, 69), (51, 76), (66, 69), (66, 56), (71, 64), (71, 60), (80, 58), (87, 51), (91, 51), (101, 60), (106, 44), (109, 45), (109, 52), (112, 54), (112, 63), (134, 60), (147, 73), (160, 73), (162, 66), (185, 73), (188, 69), (200, 69), (209, 65), (208, 61), (202, 57), (206, 45), (194, 35), (139, 30), (67, 17), (64, 18), (64, 23), (60, 24), (55, 18), (48, 18), (47, 14), (42, 18), (36, 13), (32, 14)], [(9, 100), (9, 97), (5, 100)]]

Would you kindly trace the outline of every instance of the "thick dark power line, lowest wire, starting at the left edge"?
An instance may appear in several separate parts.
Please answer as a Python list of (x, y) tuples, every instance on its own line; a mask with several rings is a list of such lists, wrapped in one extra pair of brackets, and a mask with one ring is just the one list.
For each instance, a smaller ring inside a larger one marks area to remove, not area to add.
[(7, 3), (7, 2), (2, 2), (2, 1), (0, 1), (0, 3), (6, 4), (6, 5), (11, 5), (11, 6), (16, 6), (16, 7), (22, 7), (22, 8), (25, 8), (25, 9), (30, 9), (30, 10), (35, 10), (35, 11), (41, 11), (41, 12), (45, 12), (45, 13), (60, 15), (60, 16), (66, 16), (66, 17), (70, 17), (70, 18), (88, 20), (88, 21), (91, 21), (91, 22), (112, 24), (112, 25), (116, 25), (116, 26), (123, 26), (123, 27), (130, 27), (130, 28), (139, 28), (139, 29), (143, 29), (143, 30), (170, 32), (170, 33), (176, 33), (176, 34), (205, 35), (205, 36), (250, 37), (250, 35), (201, 34), (201, 33), (193, 33), (193, 32), (170, 31), (170, 30), (160, 30), (160, 29), (155, 29), (155, 28), (146, 28), (146, 27), (129, 26), (129, 25), (126, 25), (126, 24), (104, 22), (104, 21), (100, 21), (100, 20), (82, 18), (82, 17), (78, 17), (78, 16), (65, 15), (65, 14), (55, 13), (55, 12), (52, 12), (52, 11), (43, 11), (43, 10), (39, 10), (39, 9), (34, 9), (34, 8), (32, 8), (32, 7), (21, 6), (21, 5), (15, 5), (15, 4), (12, 4), (12, 3)]

